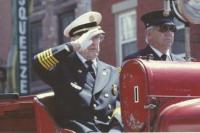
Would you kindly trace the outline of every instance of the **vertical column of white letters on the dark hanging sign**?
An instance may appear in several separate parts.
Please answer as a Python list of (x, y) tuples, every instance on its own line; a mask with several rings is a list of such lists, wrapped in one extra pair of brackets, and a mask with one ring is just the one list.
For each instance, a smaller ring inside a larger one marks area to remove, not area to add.
[(21, 94), (28, 93), (29, 56), (28, 56), (28, 12), (27, 0), (18, 0), (18, 50), (19, 50), (19, 88)]

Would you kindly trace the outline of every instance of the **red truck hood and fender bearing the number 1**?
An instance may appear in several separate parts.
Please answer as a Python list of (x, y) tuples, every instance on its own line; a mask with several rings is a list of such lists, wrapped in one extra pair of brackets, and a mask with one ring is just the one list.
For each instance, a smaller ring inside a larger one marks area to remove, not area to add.
[(126, 62), (120, 75), (125, 131), (200, 131), (199, 66), (197, 62)]

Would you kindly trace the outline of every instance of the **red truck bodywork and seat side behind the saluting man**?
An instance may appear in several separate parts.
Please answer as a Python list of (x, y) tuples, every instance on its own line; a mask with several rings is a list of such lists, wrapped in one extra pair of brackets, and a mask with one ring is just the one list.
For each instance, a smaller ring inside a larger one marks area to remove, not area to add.
[(0, 96), (0, 133), (73, 133), (54, 121), (53, 96)]

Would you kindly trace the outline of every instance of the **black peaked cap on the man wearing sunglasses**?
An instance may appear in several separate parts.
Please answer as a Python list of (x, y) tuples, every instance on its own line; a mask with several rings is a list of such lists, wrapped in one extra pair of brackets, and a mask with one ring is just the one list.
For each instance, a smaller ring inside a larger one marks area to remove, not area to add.
[(146, 27), (157, 26), (165, 23), (170, 23), (174, 25), (173, 19), (174, 15), (170, 13), (168, 16), (166, 16), (164, 15), (164, 10), (149, 12), (141, 17), (141, 20)]

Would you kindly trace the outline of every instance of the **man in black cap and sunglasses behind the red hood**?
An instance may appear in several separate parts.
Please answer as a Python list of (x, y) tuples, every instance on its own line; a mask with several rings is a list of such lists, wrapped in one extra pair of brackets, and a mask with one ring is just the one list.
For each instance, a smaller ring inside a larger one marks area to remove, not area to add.
[(184, 61), (171, 52), (176, 32), (172, 12), (166, 16), (164, 10), (151, 11), (142, 15), (141, 20), (146, 27), (146, 48), (128, 55), (124, 60), (152, 55), (153, 60)]

